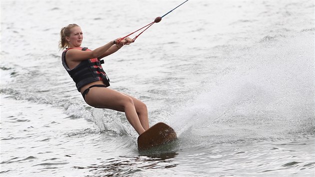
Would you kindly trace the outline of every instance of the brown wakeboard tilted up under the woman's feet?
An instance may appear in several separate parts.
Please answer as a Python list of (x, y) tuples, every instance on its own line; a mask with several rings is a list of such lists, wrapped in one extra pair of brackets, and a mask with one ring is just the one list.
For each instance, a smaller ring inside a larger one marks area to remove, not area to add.
[(147, 150), (177, 139), (173, 128), (158, 122), (138, 136), (138, 150)]

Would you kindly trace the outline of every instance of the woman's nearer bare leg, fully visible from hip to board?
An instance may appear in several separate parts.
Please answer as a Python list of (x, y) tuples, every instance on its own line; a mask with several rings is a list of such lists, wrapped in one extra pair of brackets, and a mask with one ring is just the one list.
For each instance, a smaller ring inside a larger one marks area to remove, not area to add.
[(85, 101), (93, 107), (109, 108), (124, 112), (127, 120), (138, 134), (145, 131), (131, 97), (110, 88), (93, 87), (85, 95)]

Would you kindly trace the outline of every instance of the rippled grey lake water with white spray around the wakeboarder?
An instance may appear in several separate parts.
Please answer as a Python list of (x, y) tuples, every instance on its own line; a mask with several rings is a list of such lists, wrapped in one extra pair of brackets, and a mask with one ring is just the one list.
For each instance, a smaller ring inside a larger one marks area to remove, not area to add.
[(1, 176), (314, 176), (313, 0), (189, 0), (104, 58), (168, 146), (139, 153), (124, 113), (84, 102), (60, 28), (94, 49), (181, 2), (2, 0)]

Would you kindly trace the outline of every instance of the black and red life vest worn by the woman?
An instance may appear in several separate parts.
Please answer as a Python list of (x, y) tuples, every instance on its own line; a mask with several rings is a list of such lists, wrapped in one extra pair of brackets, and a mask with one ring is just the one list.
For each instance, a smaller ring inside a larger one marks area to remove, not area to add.
[(61, 55), (62, 65), (75, 82), (75, 86), (78, 91), (80, 91), (82, 86), (98, 80), (102, 80), (106, 87), (109, 86), (109, 78), (101, 67), (101, 64), (104, 63), (104, 60), (99, 60), (98, 58), (85, 59), (73, 69), (69, 69), (65, 61), (65, 53), (69, 49), (81, 49), (84, 51), (91, 50), (87, 47), (66, 48)]

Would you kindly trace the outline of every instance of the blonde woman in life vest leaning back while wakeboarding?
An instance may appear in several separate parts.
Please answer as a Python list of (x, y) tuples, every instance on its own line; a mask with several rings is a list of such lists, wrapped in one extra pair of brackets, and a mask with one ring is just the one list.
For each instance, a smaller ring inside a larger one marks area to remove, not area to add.
[(59, 48), (65, 48), (61, 56), (62, 64), (85, 102), (93, 107), (125, 112), (127, 120), (138, 134), (148, 129), (146, 105), (132, 96), (107, 88), (109, 79), (99, 61), (100, 58), (116, 52), (124, 44), (132, 43), (132, 39), (126, 37), (119, 42), (112, 40), (90, 50), (81, 47), (83, 33), (77, 24), (61, 28), (60, 38)]

